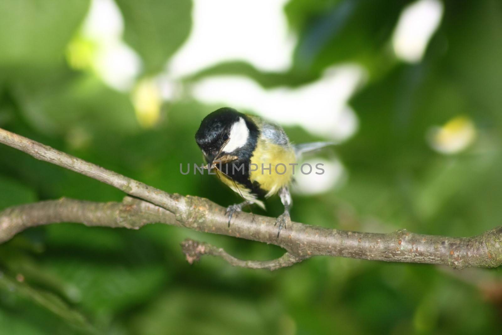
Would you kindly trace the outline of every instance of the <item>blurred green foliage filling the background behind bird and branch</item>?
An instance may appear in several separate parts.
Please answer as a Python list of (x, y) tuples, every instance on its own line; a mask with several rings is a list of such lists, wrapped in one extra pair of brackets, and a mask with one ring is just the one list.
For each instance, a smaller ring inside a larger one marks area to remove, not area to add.
[[(190, 32), (191, 2), (116, 3), (124, 40), (144, 63), (142, 75), (158, 73)], [(337, 148), (348, 180), (325, 194), (295, 196), (295, 220), (447, 236), (499, 225), (502, 3), (444, 1), (424, 59), (408, 64), (394, 56), (390, 39), (409, 3), (291, 0), (285, 13), (299, 36), (291, 69), (262, 72), (236, 60), (182, 83), (232, 74), (267, 88), (299, 86), (333, 64), (356, 62), (367, 69), (367, 84), (351, 100), (359, 130)], [(142, 129), (130, 94), (67, 63), (68, 44), (88, 8), (84, 0), (0, 2), (0, 127), (169, 192), (222, 205), (237, 201), (216, 178), (178, 175), (180, 162), (200, 161), (193, 134), (218, 106), (188, 94), (165, 102), (156, 127)], [(430, 127), (459, 115), (476, 125), (473, 145), (456, 155), (432, 150), (425, 140)], [(295, 142), (316, 140), (300, 128), (287, 131)], [(112, 201), (123, 194), (0, 146), (0, 209), (61, 196)], [(268, 207), (269, 215), (281, 211), (277, 199)], [(75, 224), (30, 229), (0, 246), (0, 333), (470, 334), (496, 333), (502, 326), (500, 297), (485, 289), (491, 281), (502, 285), (498, 269), (450, 273), (327, 257), (274, 273), (212, 258), (189, 266), (179, 247), (187, 237), (243, 259), (282, 253), (161, 225), (140, 231)]]

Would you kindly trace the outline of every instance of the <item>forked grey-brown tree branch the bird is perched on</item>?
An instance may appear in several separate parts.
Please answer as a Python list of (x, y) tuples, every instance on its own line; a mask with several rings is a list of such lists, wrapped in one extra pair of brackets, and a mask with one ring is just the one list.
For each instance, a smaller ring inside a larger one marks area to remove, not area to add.
[(185, 247), (186, 254), (193, 260), (208, 254), (221, 257), (232, 265), (250, 268), (273, 270), (317, 255), (442, 264), (457, 269), (502, 264), (502, 227), (475, 237), (450, 238), (413, 234), (406, 230), (389, 234), (359, 233), (292, 222), (277, 238), (275, 218), (255, 215), (253, 219), (252, 214), (239, 212), (232, 217), (228, 228), (225, 208), (207, 199), (169, 194), (3, 129), (0, 129), (0, 143), (145, 200), (126, 197), (123, 202), (96, 203), (60, 199), (10, 207), (0, 212), (0, 243), (28, 227), (52, 222), (82, 222), (88, 226), (130, 229), (138, 229), (150, 222), (162, 222), (200, 232), (275, 244), (287, 250), (283, 257), (274, 261), (249, 262), (237, 260), (207, 244), (192, 242), (191, 247)]

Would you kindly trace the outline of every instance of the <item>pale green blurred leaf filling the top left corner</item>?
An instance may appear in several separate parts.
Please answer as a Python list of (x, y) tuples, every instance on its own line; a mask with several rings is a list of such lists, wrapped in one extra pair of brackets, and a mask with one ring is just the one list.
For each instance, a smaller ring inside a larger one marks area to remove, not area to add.
[(19, 70), (62, 60), (88, 7), (88, 0), (2, 0), (0, 68)]

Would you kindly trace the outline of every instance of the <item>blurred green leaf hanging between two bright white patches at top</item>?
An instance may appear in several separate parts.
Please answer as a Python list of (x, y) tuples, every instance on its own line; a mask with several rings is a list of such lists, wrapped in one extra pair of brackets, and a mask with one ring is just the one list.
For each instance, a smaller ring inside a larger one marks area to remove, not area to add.
[(115, 0), (122, 12), (124, 39), (143, 58), (145, 71), (162, 70), (183, 44), (192, 25), (190, 0)]

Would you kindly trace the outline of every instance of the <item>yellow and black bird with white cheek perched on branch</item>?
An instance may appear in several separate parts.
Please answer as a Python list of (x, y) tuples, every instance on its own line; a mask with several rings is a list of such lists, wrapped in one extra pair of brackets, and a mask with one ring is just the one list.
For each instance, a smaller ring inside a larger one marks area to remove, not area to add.
[(263, 199), (279, 194), (284, 212), (277, 217), (281, 230), (291, 222), (290, 185), (294, 166), (302, 154), (333, 142), (293, 145), (282, 127), (264, 119), (239, 113), (230, 107), (207, 115), (195, 134), (195, 141), (219, 179), (244, 199), (226, 208), (228, 226), (235, 212), (245, 205), (257, 204), (265, 209)]

